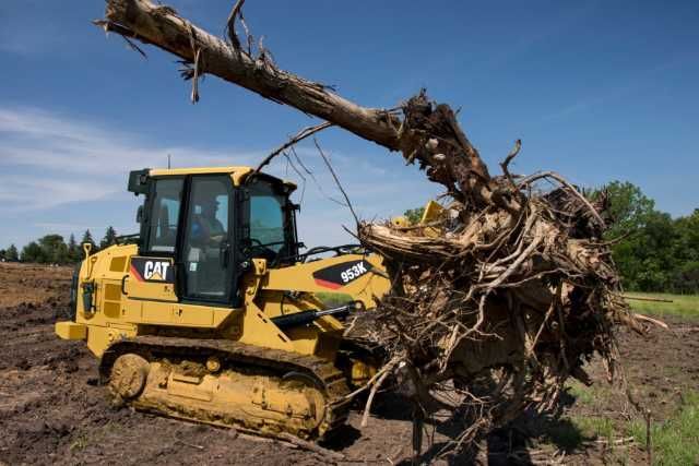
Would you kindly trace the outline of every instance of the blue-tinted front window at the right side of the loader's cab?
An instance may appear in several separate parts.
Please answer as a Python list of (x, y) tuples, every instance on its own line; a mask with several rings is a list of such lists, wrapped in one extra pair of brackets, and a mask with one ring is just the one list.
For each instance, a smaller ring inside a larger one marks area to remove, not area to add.
[(286, 246), (286, 198), (272, 187), (258, 182), (250, 189), (250, 241), (279, 253)]

